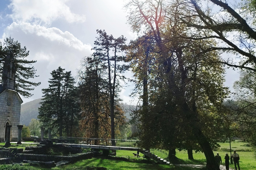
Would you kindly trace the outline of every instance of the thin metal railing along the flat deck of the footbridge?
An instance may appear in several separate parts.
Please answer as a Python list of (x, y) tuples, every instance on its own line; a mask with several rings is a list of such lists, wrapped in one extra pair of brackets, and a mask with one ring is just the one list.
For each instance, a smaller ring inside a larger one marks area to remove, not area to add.
[(115, 141), (115, 146), (118, 147), (138, 147), (139, 140), (125, 140), (125, 139), (101, 139), (101, 138), (84, 138), (84, 137), (60, 137), (52, 138), (53, 142), (57, 143), (73, 143), (73, 144), (88, 144), (88, 145), (102, 145), (112, 146), (112, 141)]

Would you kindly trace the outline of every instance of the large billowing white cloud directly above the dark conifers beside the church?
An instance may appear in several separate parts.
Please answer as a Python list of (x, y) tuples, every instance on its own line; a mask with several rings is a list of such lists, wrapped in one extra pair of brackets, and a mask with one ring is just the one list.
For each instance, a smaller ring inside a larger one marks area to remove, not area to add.
[[(37, 69), (39, 77), (32, 81), (41, 82), (41, 85), (35, 87), (32, 91), (34, 96), (30, 98), (38, 99), (42, 96), (41, 89), (48, 87), (48, 80), (51, 78), (51, 71), (56, 70), (59, 66), (71, 71), (72, 76), (76, 76), (76, 69), (80, 65), (80, 60), (84, 56), (89, 56), (92, 51), (91, 45), (84, 44), (73, 34), (62, 32), (58, 28), (46, 28), (39, 25), (31, 25), (29, 23), (13, 22), (4, 30), (2, 39), (11, 35), (14, 41), (26, 46), (29, 50), (29, 60), (37, 60), (33, 64)], [(28, 100), (24, 99), (24, 102)]]

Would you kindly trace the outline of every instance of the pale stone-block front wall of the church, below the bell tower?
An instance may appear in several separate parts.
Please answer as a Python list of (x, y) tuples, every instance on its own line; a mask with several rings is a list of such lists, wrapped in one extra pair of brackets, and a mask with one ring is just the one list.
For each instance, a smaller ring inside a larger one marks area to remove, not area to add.
[[(0, 94), (0, 141), (4, 141), (5, 124), (12, 125), (11, 141), (18, 140), (18, 127), (20, 124), (20, 100), (17, 92), (6, 89)], [(7, 102), (9, 99), (9, 102)], [(11, 99), (11, 102), (10, 102)], [(9, 105), (10, 106), (9, 106)]]

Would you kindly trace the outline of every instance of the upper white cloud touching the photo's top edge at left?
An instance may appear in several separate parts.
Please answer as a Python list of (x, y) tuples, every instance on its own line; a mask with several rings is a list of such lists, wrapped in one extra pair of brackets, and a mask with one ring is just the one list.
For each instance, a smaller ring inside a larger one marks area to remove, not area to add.
[(67, 0), (12, 0), (8, 7), (13, 13), (9, 16), (18, 23), (46, 26), (56, 19), (65, 19), (68, 23), (85, 22), (85, 15), (73, 13), (65, 2)]

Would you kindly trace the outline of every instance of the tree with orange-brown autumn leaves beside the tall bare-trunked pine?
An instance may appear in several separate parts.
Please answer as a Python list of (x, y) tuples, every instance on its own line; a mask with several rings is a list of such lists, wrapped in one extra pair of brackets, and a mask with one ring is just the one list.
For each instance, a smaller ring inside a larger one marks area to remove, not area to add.
[[(81, 103), (79, 125), (84, 137), (111, 138), (108, 67), (104, 62), (98, 55), (84, 58), (78, 71)], [(114, 103), (114, 121), (115, 137), (118, 137), (126, 121), (124, 111), (117, 102)]]

